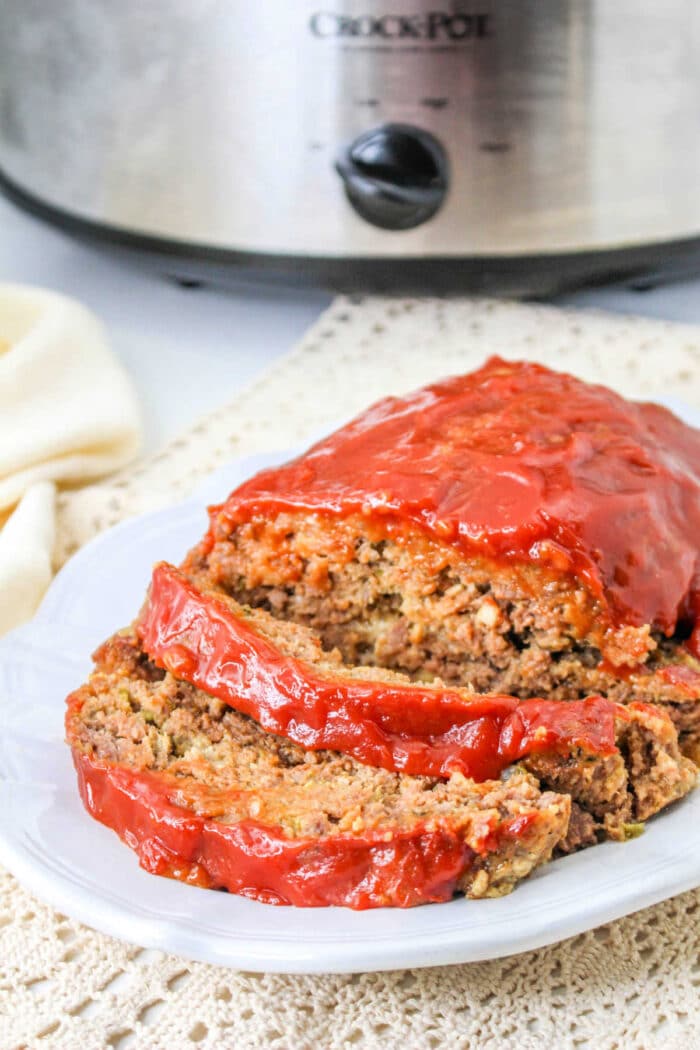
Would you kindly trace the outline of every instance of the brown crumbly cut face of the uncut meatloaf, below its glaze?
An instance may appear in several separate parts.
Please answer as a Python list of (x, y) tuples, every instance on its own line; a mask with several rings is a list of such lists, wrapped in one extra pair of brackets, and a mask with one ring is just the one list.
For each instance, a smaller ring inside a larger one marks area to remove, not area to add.
[[(596, 693), (662, 704), (685, 753), (700, 753), (700, 660), (649, 626), (603, 639), (596, 603), (566, 574), (461, 558), (418, 534), (387, 540), (360, 516), (288, 511), (233, 530), (215, 525), (185, 568), (240, 603), (313, 628), (346, 665), (519, 698)], [(665, 676), (679, 665), (695, 677)]]

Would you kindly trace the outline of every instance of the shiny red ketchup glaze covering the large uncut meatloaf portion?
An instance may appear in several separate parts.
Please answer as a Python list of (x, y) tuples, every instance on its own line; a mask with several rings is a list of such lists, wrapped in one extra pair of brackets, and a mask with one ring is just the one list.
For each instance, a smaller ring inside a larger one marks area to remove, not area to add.
[(603, 627), (682, 620), (700, 654), (700, 432), (659, 405), (493, 357), (256, 475), (211, 509), (210, 538), (291, 509), (571, 572)]

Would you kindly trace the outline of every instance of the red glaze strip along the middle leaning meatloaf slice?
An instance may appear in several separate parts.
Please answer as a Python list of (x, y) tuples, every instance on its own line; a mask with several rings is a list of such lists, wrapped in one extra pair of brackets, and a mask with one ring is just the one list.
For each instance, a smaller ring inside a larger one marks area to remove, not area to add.
[[(324, 676), (283, 655), (225, 602), (179, 570), (153, 570), (136, 626), (156, 664), (310, 750), (330, 749), (368, 765), (426, 776), (460, 771), (497, 777), (527, 754), (573, 747), (615, 751), (623, 709), (586, 700), (517, 700)], [(342, 670), (340, 671), (340, 675)]]

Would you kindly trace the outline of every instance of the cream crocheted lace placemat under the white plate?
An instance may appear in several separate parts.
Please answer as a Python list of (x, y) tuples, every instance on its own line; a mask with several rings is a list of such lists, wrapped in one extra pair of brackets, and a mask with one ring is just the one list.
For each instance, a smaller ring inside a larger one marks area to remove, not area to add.
[[(161, 454), (64, 494), (58, 561), (185, 498), (228, 459), (297, 443), (491, 353), (700, 406), (700, 330), (490, 300), (340, 298), (290, 355)], [(96, 933), (0, 869), (0, 1050), (693, 1050), (699, 1007), (700, 890), (494, 962), (283, 976)]]

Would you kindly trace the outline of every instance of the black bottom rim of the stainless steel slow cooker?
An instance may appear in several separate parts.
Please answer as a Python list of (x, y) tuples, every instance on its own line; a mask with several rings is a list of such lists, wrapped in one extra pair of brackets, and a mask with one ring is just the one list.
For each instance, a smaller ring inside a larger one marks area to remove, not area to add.
[(497, 293), (538, 298), (608, 282), (653, 286), (700, 271), (698, 237), (618, 251), (478, 259), (407, 257), (400, 264), (391, 257), (299, 257), (225, 251), (88, 222), (46, 205), (1, 171), (0, 191), (23, 210), (71, 236), (188, 282), (235, 286), (260, 281), (348, 293)]

